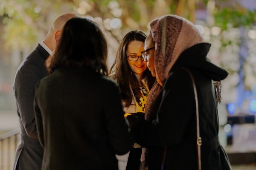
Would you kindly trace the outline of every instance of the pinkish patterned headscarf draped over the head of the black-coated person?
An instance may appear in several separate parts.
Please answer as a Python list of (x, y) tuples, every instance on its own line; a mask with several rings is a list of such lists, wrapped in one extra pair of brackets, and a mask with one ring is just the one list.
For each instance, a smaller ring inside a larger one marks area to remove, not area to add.
[[(146, 120), (155, 117), (156, 113), (152, 113), (151, 108), (180, 54), (187, 48), (204, 42), (202, 35), (193, 23), (176, 15), (164, 15), (151, 21), (150, 34), (155, 42), (154, 65), (157, 81), (148, 94), (145, 108)], [(141, 169), (143, 170), (147, 170), (147, 162), (144, 157), (147, 153), (147, 149), (143, 148), (141, 156)]]

